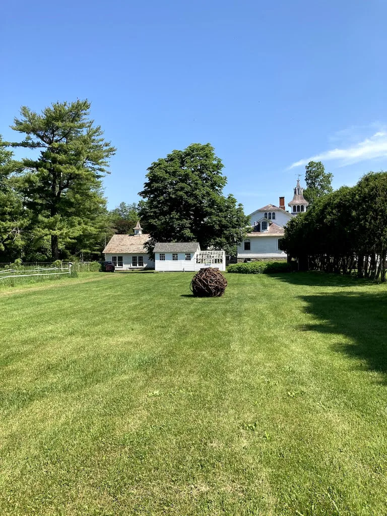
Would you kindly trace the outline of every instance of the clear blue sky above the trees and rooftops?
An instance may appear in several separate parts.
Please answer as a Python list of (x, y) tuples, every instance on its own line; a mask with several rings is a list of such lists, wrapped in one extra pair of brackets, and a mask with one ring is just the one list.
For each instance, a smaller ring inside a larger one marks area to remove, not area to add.
[(118, 148), (109, 207), (193, 142), (246, 213), (291, 200), (310, 158), (352, 185), (387, 169), (386, 19), (384, 0), (6, 2), (0, 133), (21, 105), (89, 99)]

